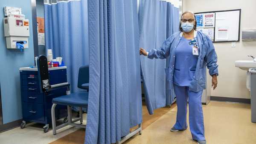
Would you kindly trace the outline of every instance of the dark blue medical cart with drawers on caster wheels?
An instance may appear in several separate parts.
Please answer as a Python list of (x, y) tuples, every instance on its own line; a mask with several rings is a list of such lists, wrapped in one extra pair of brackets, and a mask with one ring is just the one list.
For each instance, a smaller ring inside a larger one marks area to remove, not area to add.
[[(67, 82), (67, 67), (48, 68), (50, 84), (55, 85)], [(26, 127), (26, 121), (45, 124), (44, 132), (51, 124), (52, 99), (66, 95), (67, 88), (59, 88), (50, 92), (41, 92), (37, 68), (20, 68), (20, 85), (23, 122), (20, 127)], [(67, 122), (67, 107), (59, 105), (55, 109), (57, 119), (65, 118)]]

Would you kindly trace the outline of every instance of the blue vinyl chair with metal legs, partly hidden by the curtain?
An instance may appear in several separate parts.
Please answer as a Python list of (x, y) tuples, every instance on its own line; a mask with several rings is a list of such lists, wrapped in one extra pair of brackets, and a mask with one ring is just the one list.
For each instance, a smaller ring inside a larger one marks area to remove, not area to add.
[[(83, 86), (84, 85), (84, 86)], [(65, 96), (60, 96), (52, 99), (52, 132), (53, 135), (56, 134), (58, 129), (65, 127), (67, 125), (72, 125), (75, 127), (85, 128), (86, 125), (83, 125), (83, 115), (82, 108), (88, 107), (88, 91), (89, 91), (89, 66), (82, 66), (79, 68), (78, 75), (78, 88), (85, 89), (87, 91), (78, 91), (75, 93), (70, 93)], [(57, 104), (66, 105), (67, 106), (67, 119), (68, 122), (61, 124), (56, 127), (55, 120), (55, 107)], [(72, 119), (72, 109), (71, 107), (79, 107), (79, 118)], [(76, 124), (75, 122), (80, 121), (80, 124)]]

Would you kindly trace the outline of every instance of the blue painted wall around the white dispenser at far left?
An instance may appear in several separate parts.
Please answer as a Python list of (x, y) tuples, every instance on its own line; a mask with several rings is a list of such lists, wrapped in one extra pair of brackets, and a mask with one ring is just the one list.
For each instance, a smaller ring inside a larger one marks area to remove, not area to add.
[[(29, 48), (23, 52), (6, 49), (4, 6), (20, 7), (22, 14), (29, 19)], [(34, 65), (31, 0), (0, 0), (0, 83), (4, 124), (22, 119), (19, 68), (29, 65)]]

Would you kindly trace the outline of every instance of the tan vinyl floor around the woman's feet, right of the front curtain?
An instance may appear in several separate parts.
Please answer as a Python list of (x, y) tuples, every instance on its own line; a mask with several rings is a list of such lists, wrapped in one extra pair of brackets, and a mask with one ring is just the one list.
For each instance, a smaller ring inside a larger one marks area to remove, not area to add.
[[(207, 144), (256, 144), (256, 123), (251, 122), (250, 105), (210, 102), (203, 105)], [(173, 133), (177, 107), (152, 123), (142, 135), (127, 144), (197, 144), (189, 128)], [(189, 121), (187, 120), (189, 123)]]

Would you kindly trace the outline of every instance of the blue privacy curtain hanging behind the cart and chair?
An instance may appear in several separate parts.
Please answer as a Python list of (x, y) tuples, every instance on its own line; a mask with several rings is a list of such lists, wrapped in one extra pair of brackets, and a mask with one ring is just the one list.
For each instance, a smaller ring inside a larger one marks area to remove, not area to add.
[(44, 0), (45, 46), (63, 57), (71, 90), (77, 91), (79, 67), (89, 64), (87, 0)]

